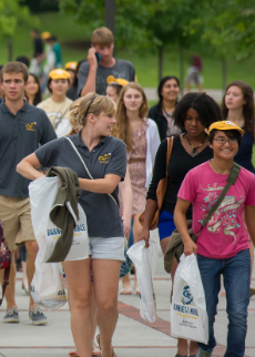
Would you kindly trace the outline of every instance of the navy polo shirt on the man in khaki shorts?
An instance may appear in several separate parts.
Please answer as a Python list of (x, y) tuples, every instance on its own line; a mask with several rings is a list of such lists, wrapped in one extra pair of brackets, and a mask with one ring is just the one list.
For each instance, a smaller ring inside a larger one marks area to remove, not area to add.
[(30, 180), (16, 171), (18, 163), (32, 154), (39, 144), (55, 139), (54, 129), (45, 112), (24, 101), (14, 115), (0, 105), (0, 195), (26, 198)]

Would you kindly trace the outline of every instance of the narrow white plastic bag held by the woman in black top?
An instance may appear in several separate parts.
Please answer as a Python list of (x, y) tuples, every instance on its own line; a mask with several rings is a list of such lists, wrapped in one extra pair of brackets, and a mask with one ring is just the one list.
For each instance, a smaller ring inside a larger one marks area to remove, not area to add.
[(145, 242), (140, 241), (133, 244), (126, 252), (136, 268), (137, 283), (140, 288), (140, 315), (149, 323), (156, 320), (156, 300), (153, 288), (153, 275), (155, 273), (159, 246), (150, 241), (149, 248)]

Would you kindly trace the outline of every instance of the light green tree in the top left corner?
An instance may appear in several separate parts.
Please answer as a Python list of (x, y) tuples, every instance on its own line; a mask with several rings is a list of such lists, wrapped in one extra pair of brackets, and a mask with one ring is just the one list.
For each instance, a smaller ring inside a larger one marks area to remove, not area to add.
[(8, 61), (12, 61), (12, 39), (22, 23), (35, 26), (38, 21), (19, 0), (0, 0), (0, 35), (8, 43)]

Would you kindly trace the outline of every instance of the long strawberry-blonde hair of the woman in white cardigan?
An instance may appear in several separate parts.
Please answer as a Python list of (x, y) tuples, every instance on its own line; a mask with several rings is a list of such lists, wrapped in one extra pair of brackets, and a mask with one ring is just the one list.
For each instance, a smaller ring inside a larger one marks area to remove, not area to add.
[(112, 129), (112, 135), (123, 140), (123, 142), (126, 145), (128, 152), (131, 151), (131, 149), (132, 149), (132, 130), (131, 130), (131, 125), (129, 123), (129, 120), (126, 118), (126, 108), (125, 108), (123, 98), (125, 95), (125, 92), (130, 88), (137, 90), (142, 94), (142, 98), (143, 98), (142, 105), (139, 110), (139, 116), (141, 119), (143, 119), (144, 116), (147, 115), (147, 99), (146, 99), (143, 88), (139, 83), (135, 83), (135, 82), (128, 83), (122, 89), (119, 100), (116, 102), (116, 124)]

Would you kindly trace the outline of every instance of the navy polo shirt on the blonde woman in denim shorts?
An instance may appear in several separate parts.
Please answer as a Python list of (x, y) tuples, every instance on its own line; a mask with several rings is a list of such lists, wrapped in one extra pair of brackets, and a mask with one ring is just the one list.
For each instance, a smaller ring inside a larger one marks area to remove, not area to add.
[[(76, 146), (93, 178), (103, 178), (106, 174), (125, 177), (126, 149), (122, 140), (103, 137), (90, 152), (81, 135), (69, 136)], [(35, 151), (43, 167), (61, 166), (73, 170), (78, 177), (90, 178), (80, 157), (65, 137), (53, 140)], [(119, 208), (118, 187), (112, 192), (118, 205), (108, 194), (81, 191), (79, 203), (86, 215), (90, 237), (123, 237), (123, 225)]]

